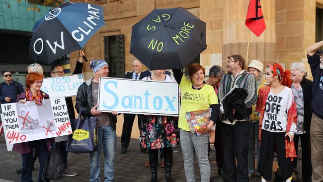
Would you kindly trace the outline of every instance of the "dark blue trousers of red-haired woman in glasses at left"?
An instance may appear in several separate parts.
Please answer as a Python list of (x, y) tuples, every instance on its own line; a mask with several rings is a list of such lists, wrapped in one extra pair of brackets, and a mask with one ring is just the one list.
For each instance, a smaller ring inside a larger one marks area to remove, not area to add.
[[(38, 154), (38, 161), (39, 161), (39, 176), (37, 182), (43, 182), (42, 173), (45, 164), (45, 160), (47, 157), (47, 145), (46, 139), (30, 141), (28, 145), (32, 151), (32, 148), (36, 148)], [(22, 167), (21, 167), (21, 182), (33, 182), (32, 181), (32, 152), (21, 154), (22, 158)], [(49, 180), (44, 180), (49, 182)]]

